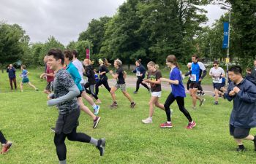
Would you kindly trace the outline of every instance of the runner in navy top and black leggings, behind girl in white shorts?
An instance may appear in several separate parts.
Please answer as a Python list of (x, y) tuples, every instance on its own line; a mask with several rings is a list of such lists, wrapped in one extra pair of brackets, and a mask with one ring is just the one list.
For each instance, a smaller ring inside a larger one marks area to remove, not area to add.
[(136, 73), (136, 77), (138, 78), (137, 79), (137, 82), (136, 82), (136, 90), (133, 92), (133, 93), (138, 93), (138, 90), (140, 88), (140, 85), (143, 85), (144, 87), (147, 88), (148, 91), (150, 91), (148, 85), (144, 84), (143, 83), (143, 79), (145, 78), (145, 74), (146, 74), (146, 69), (145, 67), (141, 64), (141, 59), (137, 60), (135, 62), (135, 65), (136, 65), (136, 68), (135, 70), (133, 70), (132, 72), (133, 73)]

